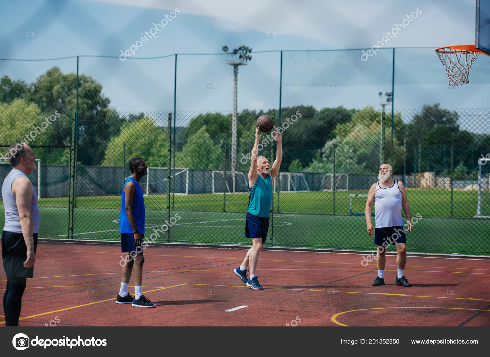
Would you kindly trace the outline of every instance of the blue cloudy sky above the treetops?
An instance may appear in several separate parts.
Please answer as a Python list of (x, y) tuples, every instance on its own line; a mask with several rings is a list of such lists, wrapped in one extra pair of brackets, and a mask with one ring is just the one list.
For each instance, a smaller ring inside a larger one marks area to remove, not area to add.
[[(419, 110), (433, 103), (446, 108), (488, 107), (490, 58), (477, 59), (470, 85), (449, 89), (434, 52), (443, 45), (475, 43), (474, 0), (1, 0), (0, 4), (0, 58), (53, 59), (0, 61), (1, 75), (32, 82), (53, 66), (75, 72), (76, 58), (64, 57), (112, 56), (80, 57), (79, 71), (102, 83), (103, 93), (120, 111), (173, 110), (175, 53), (179, 54), (177, 111), (231, 111), (233, 70), (226, 65), (223, 45), (253, 49), (252, 60), (239, 68), (239, 110), (278, 108), (281, 50), (282, 106), (380, 108), (378, 92), (391, 91), (392, 47), (395, 109)], [(157, 31), (152, 30), (156, 23), (163, 24)], [(402, 25), (397, 26), (396, 38), (388, 37), (387, 31), (396, 24)], [(146, 43), (138, 42), (147, 32), (152, 35)], [(383, 48), (363, 61), (361, 49), (367, 51), (377, 43)], [(134, 54), (121, 61), (119, 56), (131, 46)], [(292, 52), (337, 49), (353, 50)], [(158, 56), (168, 57), (135, 59)]]

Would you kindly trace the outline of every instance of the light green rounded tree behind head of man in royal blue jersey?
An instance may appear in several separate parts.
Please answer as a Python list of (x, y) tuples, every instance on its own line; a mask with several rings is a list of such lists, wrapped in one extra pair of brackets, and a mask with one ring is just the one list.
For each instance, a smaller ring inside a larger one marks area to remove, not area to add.
[(127, 123), (121, 133), (109, 141), (102, 166), (122, 166), (125, 144), (126, 161), (131, 157), (143, 157), (148, 167), (167, 167), (168, 140), (166, 129), (156, 126), (148, 116)]

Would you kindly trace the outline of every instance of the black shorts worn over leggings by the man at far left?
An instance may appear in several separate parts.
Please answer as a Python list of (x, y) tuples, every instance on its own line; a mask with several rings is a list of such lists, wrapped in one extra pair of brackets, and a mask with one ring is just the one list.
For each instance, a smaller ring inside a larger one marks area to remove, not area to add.
[[(34, 252), (37, 249), (37, 233), (34, 237)], [(24, 268), (27, 259), (27, 245), (25, 245), (22, 233), (5, 232), (1, 233), (1, 258), (5, 274), (10, 277), (32, 278), (34, 267)]]

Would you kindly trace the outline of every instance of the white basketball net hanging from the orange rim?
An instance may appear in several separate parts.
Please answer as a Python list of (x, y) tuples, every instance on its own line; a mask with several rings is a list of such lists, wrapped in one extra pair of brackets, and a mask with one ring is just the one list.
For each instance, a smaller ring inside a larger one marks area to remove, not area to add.
[(451, 49), (444, 47), (437, 50), (437, 55), (446, 68), (449, 77), (449, 86), (468, 84), (468, 75), (471, 65), (478, 57), (479, 52), (466, 49)]

